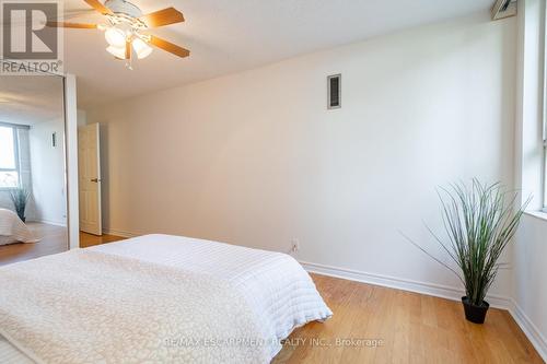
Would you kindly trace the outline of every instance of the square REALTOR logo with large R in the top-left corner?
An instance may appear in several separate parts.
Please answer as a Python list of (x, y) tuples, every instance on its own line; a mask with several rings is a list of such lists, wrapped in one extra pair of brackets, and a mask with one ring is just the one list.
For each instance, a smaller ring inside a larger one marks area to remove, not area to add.
[[(0, 73), (59, 73), (60, 32), (46, 26), (56, 21), (59, 3), (39, 0), (0, 1), (2, 11), (2, 62)], [(9, 64), (9, 66), (7, 66)], [(14, 66), (16, 64), (16, 66)]]

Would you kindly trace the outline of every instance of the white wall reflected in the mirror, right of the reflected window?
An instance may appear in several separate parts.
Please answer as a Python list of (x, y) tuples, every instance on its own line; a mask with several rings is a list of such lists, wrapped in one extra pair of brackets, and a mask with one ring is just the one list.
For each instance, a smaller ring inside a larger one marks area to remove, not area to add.
[[(51, 134), (57, 133), (57, 146)], [(33, 176), (32, 220), (67, 225), (65, 188), (65, 120), (36, 122), (30, 130)]]

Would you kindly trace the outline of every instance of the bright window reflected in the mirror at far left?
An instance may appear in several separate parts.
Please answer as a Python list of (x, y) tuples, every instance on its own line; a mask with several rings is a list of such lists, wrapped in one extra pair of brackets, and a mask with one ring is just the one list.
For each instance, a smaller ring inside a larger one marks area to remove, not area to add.
[(18, 129), (0, 125), (0, 188), (20, 185)]

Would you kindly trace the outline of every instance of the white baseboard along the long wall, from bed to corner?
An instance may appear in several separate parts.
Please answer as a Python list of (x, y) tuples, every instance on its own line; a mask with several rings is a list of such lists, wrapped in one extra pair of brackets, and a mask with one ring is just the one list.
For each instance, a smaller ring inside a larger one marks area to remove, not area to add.
[[(418, 281), (382, 275), (382, 274), (366, 273), (362, 271), (317, 265), (307, 261), (300, 261), (300, 263), (302, 265), (302, 267), (304, 267), (306, 271), (312, 273), (336, 277), (350, 281), (363, 282), (374, 285), (382, 285), (396, 290), (410, 291), (441, 298), (461, 301), (462, 296), (465, 295), (465, 292), (463, 290), (447, 285), (418, 282)], [(513, 306), (513, 302), (510, 297), (504, 297), (501, 295), (493, 295), (493, 294), (488, 295), (486, 301), (488, 301), (490, 306), (496, 308), (502, 308), (509, 310)]]

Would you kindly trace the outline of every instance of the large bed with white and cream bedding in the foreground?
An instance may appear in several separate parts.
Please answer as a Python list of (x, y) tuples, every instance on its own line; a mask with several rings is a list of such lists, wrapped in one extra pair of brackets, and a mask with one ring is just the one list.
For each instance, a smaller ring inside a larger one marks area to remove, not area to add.
[(0, 268), (2, 363), (268, 363), (331, 315), (292, 257), (179, 236)]

